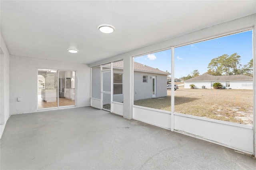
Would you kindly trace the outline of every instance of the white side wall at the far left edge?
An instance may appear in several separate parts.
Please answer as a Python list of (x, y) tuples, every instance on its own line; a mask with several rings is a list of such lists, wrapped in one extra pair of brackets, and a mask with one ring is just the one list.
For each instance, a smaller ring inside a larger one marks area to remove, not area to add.
[[(1, 35), (1, 34), (0, 34)], [(0, 138), (4, 131), (6, 122), (10, 116), (10, 105), (9, 105), (9, 79), (10, 79), (10, 56), (8, 49), (5, 45), (4, 39), (0, 39)]]

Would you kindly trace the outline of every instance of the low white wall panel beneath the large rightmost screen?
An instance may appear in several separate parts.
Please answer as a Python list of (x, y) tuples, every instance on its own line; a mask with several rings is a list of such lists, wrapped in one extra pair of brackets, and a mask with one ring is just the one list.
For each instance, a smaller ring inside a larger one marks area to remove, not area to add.
[(253, 154), (252, 126), (174, 113), (174, 130)]

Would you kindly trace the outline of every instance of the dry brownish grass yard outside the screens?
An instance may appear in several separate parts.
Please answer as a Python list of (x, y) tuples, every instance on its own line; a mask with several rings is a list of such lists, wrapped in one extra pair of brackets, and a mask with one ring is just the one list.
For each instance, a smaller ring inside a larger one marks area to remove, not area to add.
[[(171, 90), (167, 97), (134, 101), (134, 105), (171, 111)], [(199, 117), (252, 125), (253, 91), (234, 89), (179, 89), (174, 91), (174, 110)]]

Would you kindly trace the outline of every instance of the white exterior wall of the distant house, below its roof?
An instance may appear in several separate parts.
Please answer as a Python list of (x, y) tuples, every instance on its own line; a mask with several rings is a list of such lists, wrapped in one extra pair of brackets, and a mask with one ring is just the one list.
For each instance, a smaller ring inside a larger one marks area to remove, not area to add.
[(194, 84), (197, 89), (202, 89), (202, 86), (205, 86), (206, 89), (212, 89), (211, 83), (212, 82), (219, 82), (222, 84), (222, 87), (230, 88), (230, 89), (245, 89), (245, 90), (252, 90), (252, 80), (243, 80), (243, 81), (229, 81), (230, 87), (226, 87), (227, 81), (188, 81), (184, 82), (184, 88), (190, 89), (191, 84)]

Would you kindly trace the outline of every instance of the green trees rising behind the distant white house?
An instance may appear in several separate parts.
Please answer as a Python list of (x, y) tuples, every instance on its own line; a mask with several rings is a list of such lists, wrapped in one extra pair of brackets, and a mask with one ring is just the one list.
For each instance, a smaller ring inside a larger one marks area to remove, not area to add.
[[(234, 53), (232, 55), (221, 55), (210, 61), (208, 64), (207, 74), (210, 75), (248, 75), (252, 77), (253, 61), (252, 59), (243, 65), (240, 63), (240, 55)], [(200, 75), (198, 70), (194, 70), (192, 74), (188, 76), (180, 77), (181, 80), (185, 81)]]

